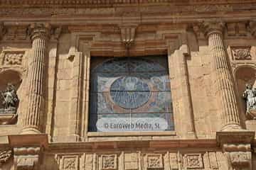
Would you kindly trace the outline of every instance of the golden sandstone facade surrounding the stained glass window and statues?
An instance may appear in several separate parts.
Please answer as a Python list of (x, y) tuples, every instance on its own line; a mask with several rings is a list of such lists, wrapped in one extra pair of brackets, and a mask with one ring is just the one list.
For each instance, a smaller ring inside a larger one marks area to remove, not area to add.
[[(166, 57), (174, 130), (90, 130), (92, 69), (147, 56)], [(19, 98), (0, 169), (256, 169), (255, 74), (254, 0), (0, 0), (0, 91)]]

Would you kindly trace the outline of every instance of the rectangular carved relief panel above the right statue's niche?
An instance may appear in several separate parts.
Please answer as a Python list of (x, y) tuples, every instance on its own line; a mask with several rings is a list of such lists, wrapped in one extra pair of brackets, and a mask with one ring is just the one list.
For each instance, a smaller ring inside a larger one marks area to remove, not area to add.
[(233, 60), (251, 60), (251, 47), (231, 47)]

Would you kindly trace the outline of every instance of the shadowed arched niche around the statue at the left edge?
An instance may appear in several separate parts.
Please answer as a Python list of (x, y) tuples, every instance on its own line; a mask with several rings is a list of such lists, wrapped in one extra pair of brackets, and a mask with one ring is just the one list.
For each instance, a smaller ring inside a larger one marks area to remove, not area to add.
[[(15, 69), (4, 69), (0, 71), (0, 93), (2, 91), (5, 91), (8, 84), (14, 85), (16, 91), (17, 91), (17, 96), (19, 98), (19, 94), (21, 94), (20, 86), (22, 82), (22, 75), (20, 72), (18, 72)], [(20, 99), (20, 98), (19, 98)], [(4, 108), (3, 106), (3, 100), (4, 98), (1, 96), (0, 97), (0, 109)], [(15, 116), (11, 115), (1, 115), (0, 116), (0, 125), (12, 125), (17, 123), (17, 115), (18, 115), (18, 108), (19, 108), (19, 103), (17, 106), (17, 111)]]

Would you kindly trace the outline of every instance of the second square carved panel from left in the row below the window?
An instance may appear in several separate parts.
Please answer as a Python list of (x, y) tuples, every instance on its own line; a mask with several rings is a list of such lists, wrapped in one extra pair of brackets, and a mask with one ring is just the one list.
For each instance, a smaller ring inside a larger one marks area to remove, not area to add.
[(116, 154), (105, 154), (102, 158), (102, 170), (117, 169), (117, 155)]

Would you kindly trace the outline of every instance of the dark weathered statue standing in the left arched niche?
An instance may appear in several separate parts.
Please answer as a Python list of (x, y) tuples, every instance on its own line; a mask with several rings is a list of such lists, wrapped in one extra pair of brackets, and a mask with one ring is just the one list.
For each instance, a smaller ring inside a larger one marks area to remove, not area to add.
[(18, 107), (18, 96), (13, 84), (8, 84), (5, 91), (1, 91), (2, 104), (4, 108), (0, 109), (0, 114), (16, 113)]

